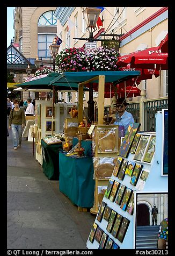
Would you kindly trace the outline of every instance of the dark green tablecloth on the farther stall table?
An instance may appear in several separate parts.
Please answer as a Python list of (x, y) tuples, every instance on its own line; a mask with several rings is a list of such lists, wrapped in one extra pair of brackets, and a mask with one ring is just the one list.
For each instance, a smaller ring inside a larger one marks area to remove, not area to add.
[(59, 180), (59, 151), (61, 144), (48, 145), (41, 139), (42, 168), (49, 180)]

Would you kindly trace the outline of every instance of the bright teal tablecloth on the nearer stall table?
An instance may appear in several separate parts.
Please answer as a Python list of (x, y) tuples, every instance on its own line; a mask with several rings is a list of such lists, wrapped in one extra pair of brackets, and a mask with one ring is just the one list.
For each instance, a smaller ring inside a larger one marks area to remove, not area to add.
[(59, 168), (60, 191), (79, 207), (93, 207), (95, 181), (92, 157), (67, 157), (60, 152)]

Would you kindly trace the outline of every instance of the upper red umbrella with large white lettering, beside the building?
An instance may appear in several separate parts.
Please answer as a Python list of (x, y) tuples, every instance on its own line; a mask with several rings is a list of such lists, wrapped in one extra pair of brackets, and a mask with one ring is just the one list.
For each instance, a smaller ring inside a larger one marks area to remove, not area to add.
[[(131, 68), (150, 68), (156, 69), (161, 65), (161, 69), (167, 69), (168, 54), (162, 53), (158, 47), (151, 47), (142, 51), (136, 51), (119, 57), (116, 65), (127, 67), (130, 63)], [(157, 66), (158, 65), (158, 66)]]

